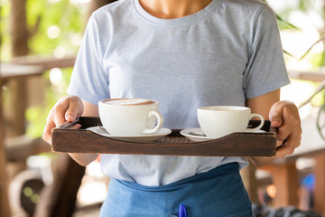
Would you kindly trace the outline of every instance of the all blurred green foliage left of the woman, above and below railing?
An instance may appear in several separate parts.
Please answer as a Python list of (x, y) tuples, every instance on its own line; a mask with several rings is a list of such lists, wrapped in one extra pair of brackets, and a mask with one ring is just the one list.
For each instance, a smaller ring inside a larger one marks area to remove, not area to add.
[[(0, 33), (1, 33), (1, 60), (8, 61), (11, 58), (10, 42), (10, 2), (2, 0), (0, 4)], [(79, 44), (74, 43), (75, 35), (80, 35), (86, 25), (88, 13), (87, 5), (74, 5), (70, 0), (27, 0), (26, 22), (31, 33), (29, 38), (30, 54), (32, 55), (58, 55), (65, 53), (77, 53)], [(54, 26), (54, 35), (49, 35), (49, 28)], [(50, 37), (51, 36), (51, 37)], [(28, 108), (26, 118), (28, 120), (27, 134), (31, 137), (42, 137), (42, 131), (46, 124), (46, 118), (58, 99), (65, 94), (71, 75), (71, 69), (61, 69), (62, 80), (60, 84), (51, 84), (50, 71), (43, 78), (48, 82), (48, 88), (44, 92), (44, 100), (40, 105)], [(5, 94), (7, 95), (7, 94)], [(7, 98), (5, 98), (7, 99)], [(5, 102), (7, 103), (7, 102)]]

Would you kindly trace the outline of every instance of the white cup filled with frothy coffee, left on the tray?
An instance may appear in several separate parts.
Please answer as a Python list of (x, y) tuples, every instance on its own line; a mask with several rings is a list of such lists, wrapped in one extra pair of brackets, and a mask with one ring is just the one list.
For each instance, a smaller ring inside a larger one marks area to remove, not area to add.
[(163, 126), (159, 103), (153, 99), (103, 99), (98, 102), (99, 118), (111, 135), (153, 134)]

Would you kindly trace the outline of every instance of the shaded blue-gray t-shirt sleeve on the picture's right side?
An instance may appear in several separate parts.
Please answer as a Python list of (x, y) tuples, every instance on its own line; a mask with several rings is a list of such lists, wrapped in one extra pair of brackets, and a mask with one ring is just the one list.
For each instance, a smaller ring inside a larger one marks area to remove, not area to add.
[(246, 99), (277, 90), (290, 83), (276, 18), (265, 5), (255, 18), (250, 58), (244, 73)]

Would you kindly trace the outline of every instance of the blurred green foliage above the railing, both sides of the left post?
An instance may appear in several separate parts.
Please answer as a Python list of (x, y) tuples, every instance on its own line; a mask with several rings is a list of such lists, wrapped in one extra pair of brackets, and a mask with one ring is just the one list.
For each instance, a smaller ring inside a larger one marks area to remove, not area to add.
[[(9, 3), (8, 0), (3, 0), (1, 3), (2, 60), (10, 58)], [(64, 48), (67, 53), (77, 52), (79, 45), (71, 41), (74, 34), (83, 32), (87, 22), (85, 20), (87, 12), (86, 5), (73, 5), (70, 0), (27, 0), (26, 22), (31, 33), (30, 54), (52, 54), (58, 46)], [(60, 29), (57, 37), (48, 36), (51, 26)]]

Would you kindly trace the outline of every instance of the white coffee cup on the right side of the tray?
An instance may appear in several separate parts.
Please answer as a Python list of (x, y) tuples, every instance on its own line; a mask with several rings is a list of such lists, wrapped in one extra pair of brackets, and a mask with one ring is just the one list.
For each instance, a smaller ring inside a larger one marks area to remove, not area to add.
[[(247, 107), (211, 106), (200, 107), (198, 120), (201, 130), (207, 137), (224, 137), (235, 132), (254, 132), (263, 127), (265, 119), (260, 114), (251, 113)], [(247, 128), (251, 118), (261, 120), (258, 127)]]

